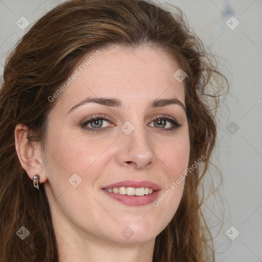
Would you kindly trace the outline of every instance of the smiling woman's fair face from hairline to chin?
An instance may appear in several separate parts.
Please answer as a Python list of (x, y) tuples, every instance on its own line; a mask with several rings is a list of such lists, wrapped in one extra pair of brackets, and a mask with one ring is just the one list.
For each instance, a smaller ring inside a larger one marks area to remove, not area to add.
[(147, 242), (170, 222), (184, 189), (183, 181), (172, 187), (189, 161), (179, 66), (145, 47), (114, 46), (84, 62), (48, 118), (40, 177), (54, 224), (64, 234)]

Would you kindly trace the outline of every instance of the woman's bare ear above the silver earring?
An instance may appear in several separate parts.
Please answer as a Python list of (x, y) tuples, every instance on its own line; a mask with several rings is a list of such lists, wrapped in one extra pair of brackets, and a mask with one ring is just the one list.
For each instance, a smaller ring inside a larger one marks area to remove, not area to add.
[(47, 181), (46, 173), (43, 172), (42, 151), (40, 143), (28, 140), (28, 126), (17, 124), (15, 127), (15, 149), (21, 166), (26, 170), (30, 179), (39, 174), (39, 182)]

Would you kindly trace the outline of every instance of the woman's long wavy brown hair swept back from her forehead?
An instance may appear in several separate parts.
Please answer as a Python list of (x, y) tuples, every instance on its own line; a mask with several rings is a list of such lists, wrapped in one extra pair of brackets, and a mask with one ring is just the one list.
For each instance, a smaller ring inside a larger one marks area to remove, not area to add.
[[(57, 88), (72, 74), (80, 59), (92, 50), (118, 44), (148, 45), (175, 58), (188, 77), (184, 80), (189, 125), (190, 160), (204, 155), (190, 172), (179, 208), (157, 236), (153, 261), (214, 261), (213, 242), (201, 211), (200, 186), (210, 165), (216, 139), (214, 112), (207, 95), (219, 103), (224, 76), (213, 57), (190, 30), (183, 13), (173, 13), (150, 1), (73, 0), (41, 17), (7, 58), (0, 90), (0, 260), (58, 261), (52, 216), (44, 187), (33, 187), (15, 149), (14, 129), (29, 127), (29, 141), (44, 145), (47, 116)], [(219, 81), (214, 81), (216, 77)], [(227, 82), (227, 81), (226, 81)], [(21, 241), (16, 231), (24, 226), (30, 235)], [(210, 237), (210, 242), (207, 241)], [(211, 251), (208, 252), (208, 251)], [(211, 255), (210, 255), (210, 254)]]

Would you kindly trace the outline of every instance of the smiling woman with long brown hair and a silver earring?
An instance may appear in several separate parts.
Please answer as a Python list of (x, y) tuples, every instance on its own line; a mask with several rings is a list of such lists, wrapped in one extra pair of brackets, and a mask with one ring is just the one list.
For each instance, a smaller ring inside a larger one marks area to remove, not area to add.
[(41, 17), (4, 70), (0, 260), (214, 261), (215, 76), (181, 12), (75, 0)]

